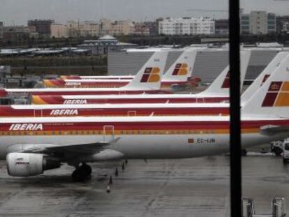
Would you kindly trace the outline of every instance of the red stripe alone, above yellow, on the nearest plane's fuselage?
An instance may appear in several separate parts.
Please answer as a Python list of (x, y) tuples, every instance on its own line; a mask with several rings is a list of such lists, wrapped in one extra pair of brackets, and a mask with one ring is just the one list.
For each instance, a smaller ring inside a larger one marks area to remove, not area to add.
[[(23, 124), (27, 122), (19, 122)], [(0, 131), (8, 131), (12, 124), (0, 124)], [(18, 123), (17, 123), (18, 124)], [(33, 123), (29, 123), (33, 124)], [(114, 130), (228, 130), (229, 121), (84, 121), (84, 122), (45, 122), (41, 130), (103, 130), (104, 126), (113, 126)], [(242, 121), (242, 130), (260, 128), (261, 126), (289, 126), (289, 120)], [(18, 130), (20, 131), (20, 130)], [(25, 130), (23, 130), (25, 131)], [(204, 132), (205, 133), (205, 132)], [(152, 133), (154, 134), (154, 133)]]

